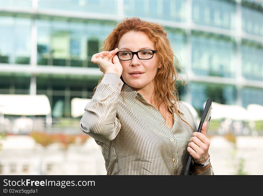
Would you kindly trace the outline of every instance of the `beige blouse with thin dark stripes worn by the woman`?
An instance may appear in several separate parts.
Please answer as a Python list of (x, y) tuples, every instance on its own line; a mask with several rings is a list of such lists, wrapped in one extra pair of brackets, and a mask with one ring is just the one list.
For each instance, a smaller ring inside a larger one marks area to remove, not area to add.
[[(182, 103), (182, 118), (196, 130)], [(80, 121), (100, 145), (107, 175), (183, 175), (192, 129), (174, 114), (171, 129), (158, 109), (114, 73), (106, 73)], [(211, 166), (201, 173), (211, 175)]]

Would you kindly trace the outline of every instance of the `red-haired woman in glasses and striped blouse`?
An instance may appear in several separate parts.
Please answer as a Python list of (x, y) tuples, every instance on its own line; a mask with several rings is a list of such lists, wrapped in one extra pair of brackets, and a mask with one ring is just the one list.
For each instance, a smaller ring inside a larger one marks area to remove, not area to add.
[(192, 174), (209, 158), (206, 124), (195, 132), (189, 109), (178, 101), (178, 74), (163, 26), (126, 19), (91, 62), (104, 73), (85, 107), (80, 128), (102, 149), (107, 175), (182, 175), (188, 152)]

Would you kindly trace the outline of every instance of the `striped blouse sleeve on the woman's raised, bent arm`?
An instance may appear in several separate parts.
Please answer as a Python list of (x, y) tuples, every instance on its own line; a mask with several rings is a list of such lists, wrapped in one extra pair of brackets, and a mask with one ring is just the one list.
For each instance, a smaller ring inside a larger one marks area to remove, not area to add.
[(115, 73), (106, 73), (91, 101), (85, 106), (80, 129), (97, 141), (113, 140), (120, 131), (117, 119), (118, 97), (123, 81)]

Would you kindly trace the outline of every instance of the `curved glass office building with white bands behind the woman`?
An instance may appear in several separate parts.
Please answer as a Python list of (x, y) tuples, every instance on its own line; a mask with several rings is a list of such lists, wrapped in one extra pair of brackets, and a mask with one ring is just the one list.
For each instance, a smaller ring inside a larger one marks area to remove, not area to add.
[(165, 26), (188, 76), (181, 99), (199, 112), (207, 98), (263, 105), (259, 0), (0, 0), (0, 94), (45, 94), (53, 117), (71, 117), (101, 76), (91, 56), (132, 16)]

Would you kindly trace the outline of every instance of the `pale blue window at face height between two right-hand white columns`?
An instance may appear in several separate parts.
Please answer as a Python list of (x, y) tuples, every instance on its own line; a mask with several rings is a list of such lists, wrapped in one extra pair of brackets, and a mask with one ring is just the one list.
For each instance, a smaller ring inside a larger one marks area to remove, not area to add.
[(236, 77), (235, 44), (223, 38), (192, 35), (192, 70), (197, 75)]

